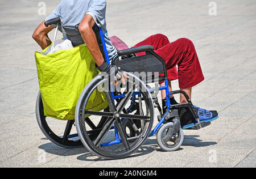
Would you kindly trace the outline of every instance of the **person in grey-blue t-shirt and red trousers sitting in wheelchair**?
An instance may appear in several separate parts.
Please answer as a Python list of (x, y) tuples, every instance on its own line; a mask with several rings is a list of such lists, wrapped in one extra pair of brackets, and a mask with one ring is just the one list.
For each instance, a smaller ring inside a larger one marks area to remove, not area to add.
[[(110, 75), (110, 69), (114, 69), (117, 79), (121, 79), (125, 83), (125, 78), (129, 78), (125, 73), (122, 73), (122, 69), (118, 69), (116, 66), (109, 65), (104, 61), (104, 57), (98, 47), (96, 35), (93, 32), (94, 24), (97, 24), (102, 28), (102, 32), (105, 39), (106, 48), (108, 49), (110, 62), (118, 55), (117, 49), (113, 46), (108, 37), (108, 31), (106, 29), (106, 0), (63, 0), (57, 6), (56, 10), (52, 12), (39, 26), (36, 28), (33, 38), (45, 49), (51, 44), (51, 40), (48, 37), (48, 33), (54, 28), (52, 26), (46, 27), (44, 23), (47, 20), (61, 18), (63, 27), (75, 27), (79, 24), (78, 29), (81, 33), (82, 40), (88, 46), (90, 53), (92, 54), (98, 69), (104, 71)], [(200, 62), (197, 57), (195, 46), (193, 42), (188, 39), (178, 39), (174, 42), (170, 42), (168, 38), (161, 34), (156, 34), (148, 37), (146, 40), (139, 42), (133, 47), (142, 45), (154, 46), (154, 52), (164, 59), (167, 66), (167, 75), (169, 88), (171, 89), (171, 80), (179, 80), (180, 90), (187, 93), (191, 99), (192, 87), (196, 86), (204, 80)], [(137, 53), (137, 56), (142, 56), (145, 52)], [(178, 66), (178, 71), (176, 69)], [(161, 76), (162, 74), (160, 74)], [(160, 83), (163, 86), (164, 83)], [(162, 90), (162, 104), (163, 110), (166, 110), (166, 93)], [(171, 104), (175, 105), (177, 102), (174, 97), (171, 96)], [(180, 94), (180, 103), (187, 103), (187, 99), (184, 95)], [(199, 114), (200, 121), (213, 121), (216, 120), (218, 113), (216, 111), (209, 111), (198, 108), (195, 106), (197, 113)], [(186, 108), (179, 109), (179, 116), (181, 119), (181, 125), (187, 125), (195, 122), (190, 110)]]

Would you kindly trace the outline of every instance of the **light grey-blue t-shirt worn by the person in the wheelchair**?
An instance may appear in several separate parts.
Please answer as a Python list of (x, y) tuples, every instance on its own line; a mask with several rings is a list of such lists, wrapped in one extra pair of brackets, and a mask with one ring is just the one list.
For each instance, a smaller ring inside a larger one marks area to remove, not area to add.
[(109, 59), (112, 61), (117, 55), (117, 49), (110, 41), (106, 29), (106, 0), (62, 0), (46, 21), (61, 18), (64, 27), (75, 27), (81, 23), (85, 14), (90, 14), (96, 24), (102, 28)]

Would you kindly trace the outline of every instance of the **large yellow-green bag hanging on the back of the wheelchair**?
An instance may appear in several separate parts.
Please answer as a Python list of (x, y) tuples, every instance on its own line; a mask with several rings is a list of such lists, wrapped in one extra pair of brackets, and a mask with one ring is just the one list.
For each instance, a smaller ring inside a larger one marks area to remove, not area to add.
[[(74, 120), (77, 100), (86, 84), (97, 76), (98, 70), (84, 44), (44, 55), (52, 45), (40, 53), (35, 52), (44, 115), (59, 120)], [(107, 106), (105, 94), (95, 91), (86, 109), (100, 111)]]

